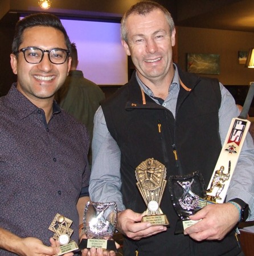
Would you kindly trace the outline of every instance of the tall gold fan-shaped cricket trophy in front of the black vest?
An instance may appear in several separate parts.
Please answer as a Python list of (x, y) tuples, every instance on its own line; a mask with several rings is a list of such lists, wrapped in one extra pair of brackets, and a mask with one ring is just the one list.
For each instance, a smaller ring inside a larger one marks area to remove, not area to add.
[(161, 162), (153, 158), (141, 162), (136, 170), (137, 187), (140, 190), (146, 206), (142, 222), (148, 221), (152, 226), (169, 225), (167, 216), (159, 208), (166, 186), (166, 168)]

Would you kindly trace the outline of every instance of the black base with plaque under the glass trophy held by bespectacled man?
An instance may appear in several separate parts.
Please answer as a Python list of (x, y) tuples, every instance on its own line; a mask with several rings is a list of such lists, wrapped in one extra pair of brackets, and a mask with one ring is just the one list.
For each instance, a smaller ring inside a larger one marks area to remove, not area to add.
[(117, 253), (116, 243), (114, 240), (106, 239), (82, 239), (79, 244), (79, 249), (91, 249), (92, 247), (101, 248), (103, 250), (114, 251)]

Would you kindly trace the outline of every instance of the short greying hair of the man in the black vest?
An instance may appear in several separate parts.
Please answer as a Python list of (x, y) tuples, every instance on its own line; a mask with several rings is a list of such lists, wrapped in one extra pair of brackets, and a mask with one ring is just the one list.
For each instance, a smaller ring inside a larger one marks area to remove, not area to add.
[(148, 13), (151, 13), (151, 11), (154, 10), (161, 10), (163, 14), (165, 14), (165, 18), (167, 20), (167, 23), (169, 23), (169, 29), (170, 29), (170, 34), (174, 30), (174, 21), (173, 18), (171, 17), (171, 14), (169, 11), (163, 7), (162, 5), (159, 5), (159, 3), (154, 2), (154, 1), (141, 1), (130, 7), (128, 11), (124, 14), (124, 17), (122, 17), (121, 20), (121, 38), (125, 41), (128, 42), (127, 39), (127, 34), (128, 31), (126, 29), (126, 20), (131, 14), (138, 14), (138, 15), (146, 15)]

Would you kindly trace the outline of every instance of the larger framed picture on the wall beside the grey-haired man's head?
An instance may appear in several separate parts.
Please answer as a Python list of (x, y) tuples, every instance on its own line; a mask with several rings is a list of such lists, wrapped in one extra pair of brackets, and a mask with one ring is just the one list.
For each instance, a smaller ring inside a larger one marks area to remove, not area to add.
[(195, 74), (220, 74), (220, 55), (187, 54), (187, 72)]

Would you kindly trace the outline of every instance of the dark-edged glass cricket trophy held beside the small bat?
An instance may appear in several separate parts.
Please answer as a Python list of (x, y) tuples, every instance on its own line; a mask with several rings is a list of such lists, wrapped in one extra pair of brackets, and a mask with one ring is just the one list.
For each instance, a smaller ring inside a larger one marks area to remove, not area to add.
[(180, 234), (197, 222), (191, 221), (189, 216), (207, 205), (202, 174), (194, 172), (186, 176), (170, 176), (169, 192), (175, 212), (179, 216), (175, 234)]

